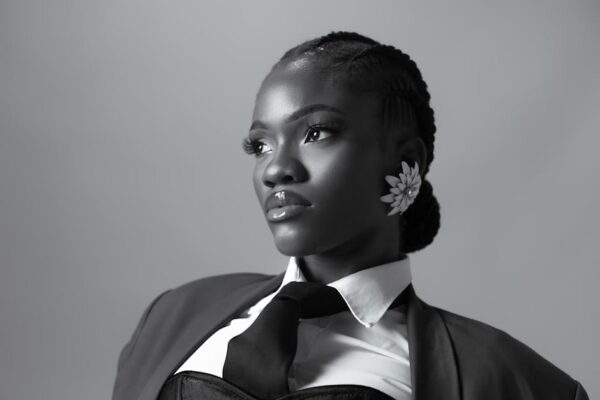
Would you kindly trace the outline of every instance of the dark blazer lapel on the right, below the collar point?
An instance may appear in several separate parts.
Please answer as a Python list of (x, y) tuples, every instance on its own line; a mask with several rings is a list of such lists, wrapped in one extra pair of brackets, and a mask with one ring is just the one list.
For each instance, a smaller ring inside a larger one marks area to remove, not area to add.
[(410, 372), (415, 400), (459, 400), (460, 381), (446, 324), (434, 307), (408, 291), (407, 330)]

